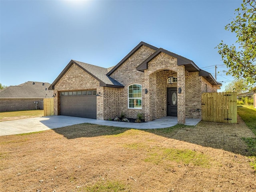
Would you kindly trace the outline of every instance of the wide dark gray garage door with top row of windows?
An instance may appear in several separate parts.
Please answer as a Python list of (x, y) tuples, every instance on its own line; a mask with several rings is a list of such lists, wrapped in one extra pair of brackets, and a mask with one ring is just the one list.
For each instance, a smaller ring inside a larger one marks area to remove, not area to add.
[(61, 92), (60, 115), (96, 119), (96, 90)]

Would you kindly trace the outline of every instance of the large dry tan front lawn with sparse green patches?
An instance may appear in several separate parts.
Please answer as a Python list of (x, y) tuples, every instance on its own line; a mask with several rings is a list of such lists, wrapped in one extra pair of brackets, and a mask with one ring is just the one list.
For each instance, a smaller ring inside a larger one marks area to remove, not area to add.
[(238, 124), (158, 130), (78, 124), (0, 137), (1, 192), (255, 192)]

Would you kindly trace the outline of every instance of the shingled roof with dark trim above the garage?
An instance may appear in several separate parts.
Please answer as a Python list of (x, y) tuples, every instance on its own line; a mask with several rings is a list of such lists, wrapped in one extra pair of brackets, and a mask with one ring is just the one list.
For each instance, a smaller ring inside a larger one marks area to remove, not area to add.
[(100, 82), (100, 86), (103, 87), (117, 87), (122, 88), (124, 87), (122, 84), (120, 84), (118, 81), (114, 80), (110, 76), (107, 76), (110, 68), (103, 68), (95, 65), (91, 65), (88, 63), (83, 63), (75, 60), (71, 60), (68, 65), (62, 70), (60, 75), (54, 80), (54, 82), (50, 85), (49, 90), (54, 90), (55, 84), (64, 76), (64, 74), (68, 71), (68, 69), (73, 65), (77, 65), (82, 70), (84, 70), (86, 73), (90, 74), (92, 77), (94, 77), (96, 80)]

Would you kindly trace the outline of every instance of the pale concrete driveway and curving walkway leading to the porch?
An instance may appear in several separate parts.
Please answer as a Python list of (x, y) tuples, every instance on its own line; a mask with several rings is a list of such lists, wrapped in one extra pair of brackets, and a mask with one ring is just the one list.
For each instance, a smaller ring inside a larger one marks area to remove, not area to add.
[[(196, 125), (200, 119), (186, 118), (185, 125)], [(70, 116), (44, 116), (12, 121), (0, 122), (0, 136), (14, 135), (21, 133), (37, 132), (49, 129), (60, 128), (80, 123), (91, 123), (106, 126), (116, 126), (134, 129), (159, 129), (172, 127), (178, 123), (177, 117), (162, 117), (145, 123), (126, 123), (106, 120), (87, 119)]]

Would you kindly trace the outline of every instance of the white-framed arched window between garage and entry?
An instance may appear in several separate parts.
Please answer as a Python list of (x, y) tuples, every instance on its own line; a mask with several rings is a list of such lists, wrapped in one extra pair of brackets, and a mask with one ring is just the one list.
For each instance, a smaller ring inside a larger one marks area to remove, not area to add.
[(132, 84), (128, 86), (128, 108), (142, 108), (141, 87), (140, 84)]

